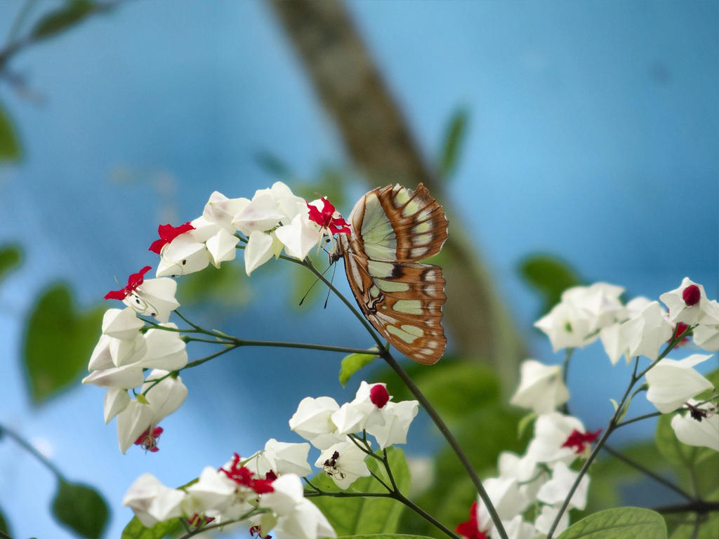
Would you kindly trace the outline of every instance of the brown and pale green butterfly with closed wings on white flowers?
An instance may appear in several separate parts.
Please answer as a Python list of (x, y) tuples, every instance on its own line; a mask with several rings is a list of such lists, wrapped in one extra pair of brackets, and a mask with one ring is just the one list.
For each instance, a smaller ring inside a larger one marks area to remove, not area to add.
[(421, 183), (371, 190), (349, 214), (351, 234), (338, 234), (334, 256), (360, 310), (390, 344), (414, 361), (433, 364), (444, 354), (442, 269), (418, 262), (447, 239), (441, 206)]

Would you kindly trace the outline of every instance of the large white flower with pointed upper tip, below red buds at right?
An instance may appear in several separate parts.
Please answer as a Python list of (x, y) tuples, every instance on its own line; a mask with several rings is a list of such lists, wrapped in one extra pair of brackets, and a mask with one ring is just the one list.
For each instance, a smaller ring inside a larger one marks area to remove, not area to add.
[(659, 361), (646, 373), (647, 400), (661, 413), (669, 413), (702, 391), (711, 389), (711, 382), (693, 369), (710, 357), (693, 354), (680, 361), (669, 358)]

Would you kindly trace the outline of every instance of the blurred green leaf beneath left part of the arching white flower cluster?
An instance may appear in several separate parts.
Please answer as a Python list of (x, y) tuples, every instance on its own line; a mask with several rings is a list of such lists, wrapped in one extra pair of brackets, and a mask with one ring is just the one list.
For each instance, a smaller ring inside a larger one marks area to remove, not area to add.
[[(239, 251), (237, 255), (242, 257), (243, 252)], [(239, 307), (252, 300), (252, 289), (242, 262), (221, 264), (219, 269), (208, 267), (201, 272), (183, 275), (178, 294), (181, 305), (212, 303), (222, 307)]]

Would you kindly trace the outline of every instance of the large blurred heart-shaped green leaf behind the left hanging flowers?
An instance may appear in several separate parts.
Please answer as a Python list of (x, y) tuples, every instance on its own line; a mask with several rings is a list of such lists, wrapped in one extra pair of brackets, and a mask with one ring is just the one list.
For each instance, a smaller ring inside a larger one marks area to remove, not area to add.
[(25, 325), (23, 359), (35, 404), (75, 383), (87, 368), (104, 309), (78, 311), (68, 285), (55, 283), (37, 299)]

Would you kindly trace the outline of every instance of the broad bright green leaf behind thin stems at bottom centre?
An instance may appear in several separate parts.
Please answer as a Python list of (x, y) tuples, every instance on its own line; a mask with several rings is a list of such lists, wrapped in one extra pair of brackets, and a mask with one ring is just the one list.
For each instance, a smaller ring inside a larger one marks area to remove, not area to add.
[[(387, 453), (398, 489), (400, 492), (408, 492), (410, 478), (404, 453), (394, 447), (388, 448)], [(367, 459), (367, 465), (388, 482), (384, 466), (378, 466), (377, 461), (372, 458)], [(324, 474), (316, 475), (312, 482), (326, 492), (340, 492), (334, 482)], [(346, 492), (387, 492), (387, 489), (372, 477), (360, 477)], [(327, 517), (337, 535), (393, 533), (404, 508), (400, 502), (390, 498), (321, 496), (311, 497), (311, 500)]]

